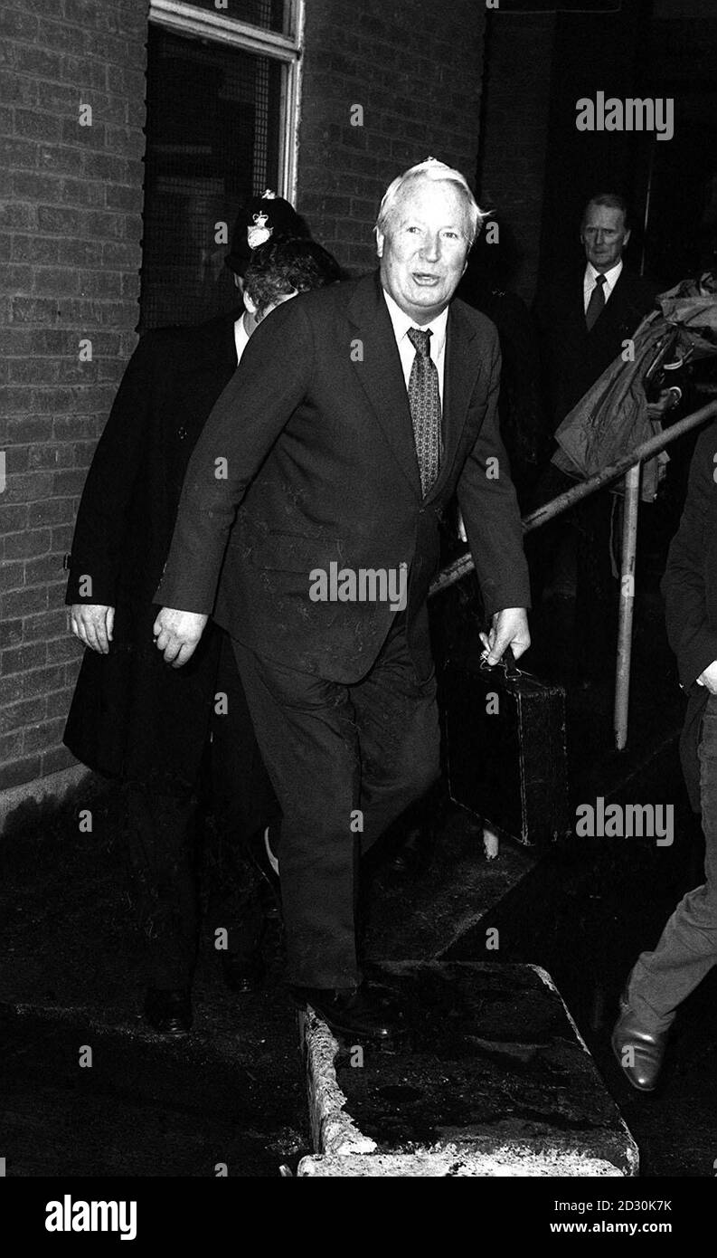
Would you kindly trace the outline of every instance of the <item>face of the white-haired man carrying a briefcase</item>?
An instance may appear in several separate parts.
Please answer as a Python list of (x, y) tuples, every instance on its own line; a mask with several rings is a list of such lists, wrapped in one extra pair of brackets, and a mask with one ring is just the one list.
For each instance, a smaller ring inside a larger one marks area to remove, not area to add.
[(377, 234), (380, 282), (416, 323), (429, 323), (466, 269), (471, 229), (465, 198), (453, 184), (412, 180), (387, 226)]

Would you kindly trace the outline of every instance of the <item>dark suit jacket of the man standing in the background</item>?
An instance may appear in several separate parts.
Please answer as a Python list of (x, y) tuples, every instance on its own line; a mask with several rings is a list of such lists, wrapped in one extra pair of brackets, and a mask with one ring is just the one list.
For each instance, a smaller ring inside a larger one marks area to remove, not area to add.
[(622, 352), (654, 304), (659, 286), (633, 276), (623, 267), (605, 308), (588, 331), (583, 281), (585, 268), (568, 279), (556, 279), (535, 302), (547, 411), (553, 431), (573, 406)]

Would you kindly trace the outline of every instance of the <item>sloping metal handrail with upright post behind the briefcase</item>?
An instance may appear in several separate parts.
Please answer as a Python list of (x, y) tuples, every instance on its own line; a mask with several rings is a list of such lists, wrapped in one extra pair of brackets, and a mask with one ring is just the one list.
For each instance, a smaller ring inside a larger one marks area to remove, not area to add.
[[(717, 419), (717, 401), (711, 401), (706, 406), (701, 406), (699, 410), (693, 411), (692, 415), (686, 415), (684, 419), (678, 420), (678, 423), (673, 424), (671, 428), (664, 429), (660, 433), (655, 433), (655, 435), (650, 437), (647, 442), (643, 442), (640, 445), (635, 445), (634, 450), (629, 450), (628, 454), (623, 454), (622, 458), (589, 477), (588, 481), (583, 481), (579, 484), (571, 486), (570, 489), (565, 489), (564, 493), (559, 493), (558, 497), (551, 498), (550, 502), (546, 502), (536, 511), (532, 511), (522, 521), (524, 531), (526, 533), (531, 532), (534, 528), (540, 528), (541, 525), (547, 523), (549, 520), (554, 520), (555, 516), (560, 516), (564, 511), (569, 511), (576, 502), (581, 502), (583, 498), (588, 498), (591, 493), (596, 493), (598, 489), (601, 489), (604, 486), (617, 481), (618, 477), (622, 476), (625, 478), (618, 658), (615, 663), (614, 723), (615, 747), (618, 751), (622, 751), (625, 747), (628, 736), (634, 566), (640, 491), (640, 465), (647, 459), (659, 454), (666, 445), (671, 445), (672, 442), (676, 442), (679, 437), (683, 437), (684, 433), (688, 433), (699, 424), (703, 424), (707, 419)], [(453, 560), (452, 564), (448, 564), (447, 567), (438, 572), (438, 576), (431, 584), (428, 598), (433, 598), (442, 590), (448, 589), (450, 585), (455, 585), (456, 581), (460, 581), (463, 576), (467, 576), (468, 572), (472, 572), (473, 567), (475, 564), (470, 552), (461, 555), (457, 560)]]

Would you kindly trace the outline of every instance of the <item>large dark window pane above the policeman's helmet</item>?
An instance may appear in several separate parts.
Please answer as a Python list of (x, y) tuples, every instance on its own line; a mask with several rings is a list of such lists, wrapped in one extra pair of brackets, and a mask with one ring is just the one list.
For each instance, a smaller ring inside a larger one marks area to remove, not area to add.
[(246, 198), (278, 191), (281, 74), (271, 58), (149, 26), (141, 331), (236, 304), (216, 238), (226, 223), (231, 239)]

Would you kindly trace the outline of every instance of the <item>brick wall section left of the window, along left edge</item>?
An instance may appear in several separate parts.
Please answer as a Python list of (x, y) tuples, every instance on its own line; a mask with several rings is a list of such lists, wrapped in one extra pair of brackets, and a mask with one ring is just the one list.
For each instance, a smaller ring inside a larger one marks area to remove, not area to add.
[(146, 38), (146, 0), (0, 9), (0, 789), (74, 764), (63, 556), (136, 341)]

